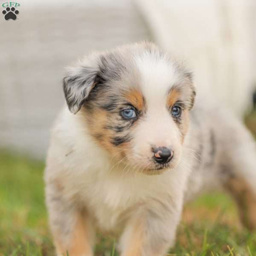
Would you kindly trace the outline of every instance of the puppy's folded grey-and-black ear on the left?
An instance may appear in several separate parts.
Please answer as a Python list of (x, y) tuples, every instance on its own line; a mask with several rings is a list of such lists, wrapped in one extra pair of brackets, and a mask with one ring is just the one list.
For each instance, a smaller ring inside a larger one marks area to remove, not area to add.
[(98, 70), (93, 67), (76, 67), (68, 70), (63, 79), (63, 90), (71, 113), (77, 113), (95, 86)]

